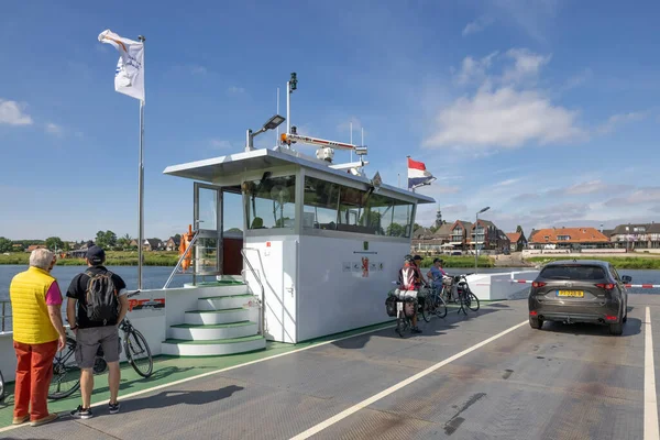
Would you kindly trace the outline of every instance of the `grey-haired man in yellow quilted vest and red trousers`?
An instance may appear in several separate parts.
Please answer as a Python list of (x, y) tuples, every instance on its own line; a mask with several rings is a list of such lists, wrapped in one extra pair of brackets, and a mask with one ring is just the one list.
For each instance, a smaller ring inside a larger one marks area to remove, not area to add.
[(53, 421), (48, 413), (48, 386), (53, 359), (66, 344), (62, 323), (62, 293), (51, 276), (55, 254), (37, 249), (30, 254), (30, 267), (11, 280), (9, 296), (13, 315), (13, 345), (16, 352), (13, 424), (31, 426)]

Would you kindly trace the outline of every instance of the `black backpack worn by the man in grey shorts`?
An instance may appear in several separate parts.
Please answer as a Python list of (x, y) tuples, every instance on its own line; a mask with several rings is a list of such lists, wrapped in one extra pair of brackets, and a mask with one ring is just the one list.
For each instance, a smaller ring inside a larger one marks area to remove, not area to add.
[(119, 318), (119, 299), (117, 288), (112, 282), (112, 272), (106, 271), (94, 274), (85, 272), (89, 276), (86, 292), (87, 318), (90, 321), (117, 323)]

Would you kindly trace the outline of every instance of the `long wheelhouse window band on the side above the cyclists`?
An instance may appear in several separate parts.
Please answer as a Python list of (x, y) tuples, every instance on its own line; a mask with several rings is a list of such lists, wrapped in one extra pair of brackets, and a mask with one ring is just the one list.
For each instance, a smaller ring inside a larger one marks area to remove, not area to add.
[(302, 229), (409, 238), (413, 204), (305, 177)]

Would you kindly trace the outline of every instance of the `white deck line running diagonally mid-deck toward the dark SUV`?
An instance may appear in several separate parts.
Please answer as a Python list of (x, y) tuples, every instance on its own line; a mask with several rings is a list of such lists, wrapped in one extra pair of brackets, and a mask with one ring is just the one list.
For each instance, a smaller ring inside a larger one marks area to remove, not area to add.
[(438, 369), (441, 369), (442, 366), (455, 361), (457, 359), (463, 358), (465, 354), (472, 353), (475, 350), (481, 349), (482, 346), (486, 345), (490, 342), (495, 341), (496, 339), (502, 338), (503, 336), (510, 333), (512, 331), (525, 326), (529, 323), (528, 320), (525, 320), (514, 327), (510, 327), (508, 329), (506, 329), (505, 331), (503, 331), (502, 333), (497, 333), (494, 337), (491, 337), (488, 339), (486, 339), (485, 341), (482, 341), (480, 343), (477, 343), (476, 345), (472, 345), (471, 348), (463, 350), (460, 353), (454, 354), (451, 358), (446, 359), (444, 361), (438, 362), (437, 364), (429, 366), (428, 369), (426, 369), (425, 371), (421, 371), (419, 373), (417, 373), (414, 376), (408, 377), (405, 381), (399, 382), (396, 385), (391, 386), (389, 388), (376, 394), (375, 396), (372, 396), (365, 400), (362, 400), (361, 403), (353, 405), (352, 407), (350, 407), (349, 409), (345, 409), (343, 411), (341, 411), (340, 414), (338, 414), (334, 417), (330, 417), (328, 420), (321, 421), (320, 424), (318, 424), (317, 426), (314, 426), (311, 428), (309, 428), (307, 431), (305, 432), (300, 432), (299, 435), (297, 435), (296, 437), (292, 437), (290, 440), (304, 440), (304, 439), (308, 439), (311, 436), (322, 431), (323, 429), (337, 424), (338, 421), (349, 417), (350, 415), (358, 413), (359, 410), (361, 410), (362, 408), (365, 408), (370, 405), (372, 405), (375, 402), (378, 402), (380, 399), (382, 399), (383, 397), (386, 397), (388, 395), (391, 395), (392, 393), (397, 392), (398, 389), (402, 389), (405, 386), (410, 385), (411, 383), (414, 383), (415, 381), (435, 372)]

